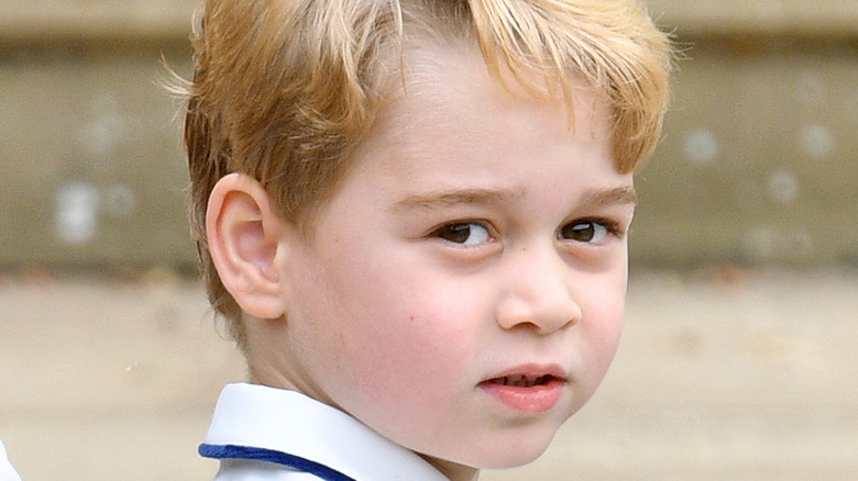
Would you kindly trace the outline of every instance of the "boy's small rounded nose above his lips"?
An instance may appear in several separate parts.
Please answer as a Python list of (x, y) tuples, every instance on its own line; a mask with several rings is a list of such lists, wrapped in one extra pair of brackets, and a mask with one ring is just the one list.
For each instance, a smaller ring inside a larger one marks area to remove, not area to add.
[(531, 328), (549, 335), (581, 321), (571, 284), (571, 267), (553, 249), (521, 251), (510, 260), (504, 276), (508, 279), (495, 318), (507, 331)]

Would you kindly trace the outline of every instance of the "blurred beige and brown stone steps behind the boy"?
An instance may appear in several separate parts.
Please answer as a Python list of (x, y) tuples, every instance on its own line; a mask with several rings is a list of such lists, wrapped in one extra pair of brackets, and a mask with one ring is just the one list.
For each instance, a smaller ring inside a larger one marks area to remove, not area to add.
[[(649, 0), (682, 59), (592, 403), (486, 480), (858, 479), (858, 1)], [(0, 438), (24, 480), (206, 479), (243, 378), (196, 282), (194, 0), (0, 0)]]

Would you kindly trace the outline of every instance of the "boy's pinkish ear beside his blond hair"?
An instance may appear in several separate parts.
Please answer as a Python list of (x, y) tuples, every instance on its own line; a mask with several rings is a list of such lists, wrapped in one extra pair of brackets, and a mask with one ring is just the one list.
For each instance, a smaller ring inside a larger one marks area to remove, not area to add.
[(255, 179), (230, 174), (211, 191), (206, 212), (209, 251), (221, 282), (248, 314), (278, 318), (286, 313), (280, 259), (286, 222)]

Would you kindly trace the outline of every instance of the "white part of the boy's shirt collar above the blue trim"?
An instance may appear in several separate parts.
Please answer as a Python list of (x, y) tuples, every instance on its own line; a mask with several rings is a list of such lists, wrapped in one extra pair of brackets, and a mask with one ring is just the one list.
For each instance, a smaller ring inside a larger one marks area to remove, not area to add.
[(228, 384), (218, 400), (206, 445), (278, 451), (359, 481), (448, 481), (426, 460), (342, 411), (266, 385)]

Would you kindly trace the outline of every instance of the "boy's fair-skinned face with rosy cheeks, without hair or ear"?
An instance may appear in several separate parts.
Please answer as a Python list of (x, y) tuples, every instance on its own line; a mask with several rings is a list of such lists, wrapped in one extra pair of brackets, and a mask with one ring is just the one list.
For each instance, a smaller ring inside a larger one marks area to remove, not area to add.
[(535, 459), (604, 377), (632, 178), (614, 168), (608, 112), (586, 90), (572, 133), (562, 101), (512, 77), (505, 89), (476, 49), (406, 59), (407, 93), (314, 240), (285, 256), (274, 356), (284, 384), (458, 478)]

